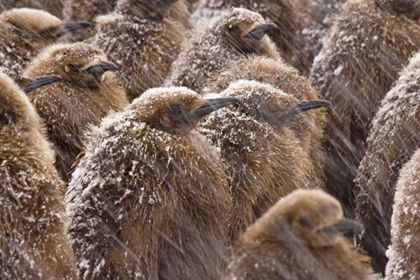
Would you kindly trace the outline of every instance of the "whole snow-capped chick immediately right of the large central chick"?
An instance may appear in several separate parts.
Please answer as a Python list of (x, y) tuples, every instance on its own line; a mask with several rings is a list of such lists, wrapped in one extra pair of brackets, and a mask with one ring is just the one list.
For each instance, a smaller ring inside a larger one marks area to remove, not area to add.
[(231, 83), (220, 95), (240, 102), (206, 118), (199, 131), (221, 150), (226, 165), (233, 199), (229, 236), (234, 244), (280, 197), (318, 181), (309, 150), (285, 124), (329, 102), (300, 102), (269, 84), (245, 80)]

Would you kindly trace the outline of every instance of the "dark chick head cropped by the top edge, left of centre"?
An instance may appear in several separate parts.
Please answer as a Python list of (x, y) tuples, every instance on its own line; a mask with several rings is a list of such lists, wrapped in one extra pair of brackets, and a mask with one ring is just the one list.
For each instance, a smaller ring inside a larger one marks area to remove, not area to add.
[(169, 14), (172, 5), (178, 0), (120, 0), (116, 11), (137, 17), (162, 20)]

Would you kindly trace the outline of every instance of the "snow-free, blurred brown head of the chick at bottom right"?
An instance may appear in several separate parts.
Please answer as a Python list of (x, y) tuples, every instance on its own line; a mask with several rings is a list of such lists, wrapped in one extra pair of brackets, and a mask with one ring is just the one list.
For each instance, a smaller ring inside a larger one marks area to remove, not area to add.
[(313, 248), (334, 246), (346, 231), (362, 226), (343, 217), (340, 203), (321, 190), (296, 190), (278, 201), (261, 218), (265, 229), (284, 239), (279, 225), (286, 223), (294, 241)]

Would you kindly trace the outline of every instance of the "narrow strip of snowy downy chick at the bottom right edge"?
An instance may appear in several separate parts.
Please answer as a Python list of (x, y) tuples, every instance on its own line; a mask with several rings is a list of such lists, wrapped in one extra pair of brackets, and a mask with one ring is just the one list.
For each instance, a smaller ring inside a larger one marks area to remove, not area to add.
[(401, 169), (395, 188), (386, 280), (420, 277), (420, 150)]

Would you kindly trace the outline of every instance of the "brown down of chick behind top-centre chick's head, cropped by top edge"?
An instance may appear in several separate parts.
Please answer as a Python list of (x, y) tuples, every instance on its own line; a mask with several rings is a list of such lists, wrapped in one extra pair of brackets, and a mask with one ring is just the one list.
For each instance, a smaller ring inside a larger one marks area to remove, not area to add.
[(261, 14), (264, 19), (277, 25), (268, 35), (278, 47), (280, 55), (288, 63), (299, 66), (298, 44), (301, 23), (298, 20), (296, 0), (202, 0), (193, 14), (193, 20), (219, 15), (231, 7), (241, 7)]

